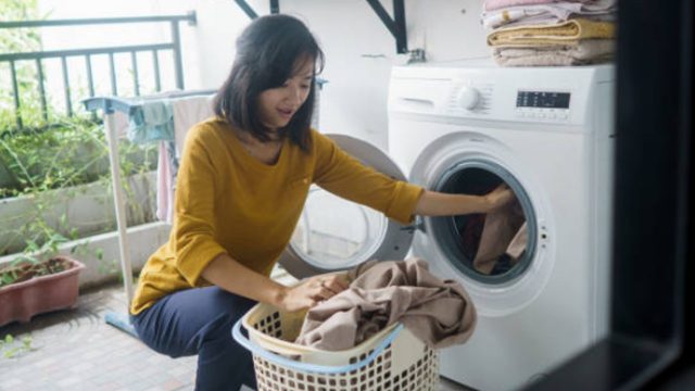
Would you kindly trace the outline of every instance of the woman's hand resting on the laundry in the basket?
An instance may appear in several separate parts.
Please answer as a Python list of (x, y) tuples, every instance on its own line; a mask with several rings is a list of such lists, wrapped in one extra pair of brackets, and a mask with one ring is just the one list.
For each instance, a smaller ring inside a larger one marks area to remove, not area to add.
[(294, 287), (286, 288), (279, 306), (287, 312), (311, 308), (348, 287), (348, 278), (344, 274), (311, 277)]

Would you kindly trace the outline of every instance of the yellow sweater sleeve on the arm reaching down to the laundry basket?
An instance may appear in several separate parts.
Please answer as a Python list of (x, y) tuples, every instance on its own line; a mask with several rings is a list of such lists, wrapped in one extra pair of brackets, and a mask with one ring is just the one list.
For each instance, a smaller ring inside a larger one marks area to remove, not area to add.
[(226, 250), (215, 239), (216, 140), (205, 125), (189, 131), (177, 174), (174, 222), (176, 267), (191, 285)]

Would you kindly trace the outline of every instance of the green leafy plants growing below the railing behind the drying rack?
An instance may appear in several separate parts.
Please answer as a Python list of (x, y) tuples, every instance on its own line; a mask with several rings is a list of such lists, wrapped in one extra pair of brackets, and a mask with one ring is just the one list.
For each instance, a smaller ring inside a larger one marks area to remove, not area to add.
[[(154, 147), (141, 147), (124, 140), (119, 143), (122, 156), (122, 176), (144, 174), (154, 169), (156, 150)], [(0, 227), (0, 234), (15, 238), (0, 247), (0, 254), (7, 253), (11, 242), (23, 238), (27, 251), (35, 251), (45, 243), (54, 242), (58, 236), (70, 240), (78, 239), (78, 230), (71, 226), (67, 215), (60, 216), (53, 205), (66, 199), (78, 197), (75, 186), (99, 181), (108, 191), (110, 168), (108, 147), (104, 140), (103, 125), (85, 118), (61, 118), (61, 122), (47, 129), (13, 130), (0, 137), (0, 163), (13, 178), (13, 184), (0, 188), (0, 199), (24, 195), (33, 200), (33, 207), (13, 218), (28, 222), (21, 227), (11, 224)], [(132, 200), (135, 191), (124, 181), (126, 198)], [(67, 189), (54, 192), (54, 189)], [(83, 188), (81, 191), (85, 191)], [(108, 194), (101, 194), (100, 202)], [(131, 217), (137, 222), (152, 220), (142, 205), (130, 202)], [(112, 204), (104, 204), (104, 211)], [(105, 212), (104, 212), (105, 213)], [(104, 214), (104, 218), (105, 218)], [(10, 223), (10, 222), (8, 222)], [(99, 234), (113, 230), (113, 223), (104, 219)], [(109, 269), (113, 268), (110, 266)]]

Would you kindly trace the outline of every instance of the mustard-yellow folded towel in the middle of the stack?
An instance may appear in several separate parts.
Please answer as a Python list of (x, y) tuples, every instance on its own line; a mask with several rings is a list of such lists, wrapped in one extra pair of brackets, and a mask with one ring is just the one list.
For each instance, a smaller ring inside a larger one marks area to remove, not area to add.
[(488, 36), (492, 47), (539, 47), (589, 38), (614, 38), (615, 24), (574, 18), (555, 25), (500, 28)]

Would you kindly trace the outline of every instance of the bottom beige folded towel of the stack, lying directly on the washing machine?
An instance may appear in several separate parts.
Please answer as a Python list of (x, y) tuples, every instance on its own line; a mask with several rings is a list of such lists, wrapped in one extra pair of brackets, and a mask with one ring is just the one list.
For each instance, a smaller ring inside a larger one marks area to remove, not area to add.
[(493, 56), (502, 66), (581, 65), (610, 61), (615, 48), (615, 39), (582, 39), (571, 45), (495, 48)]

